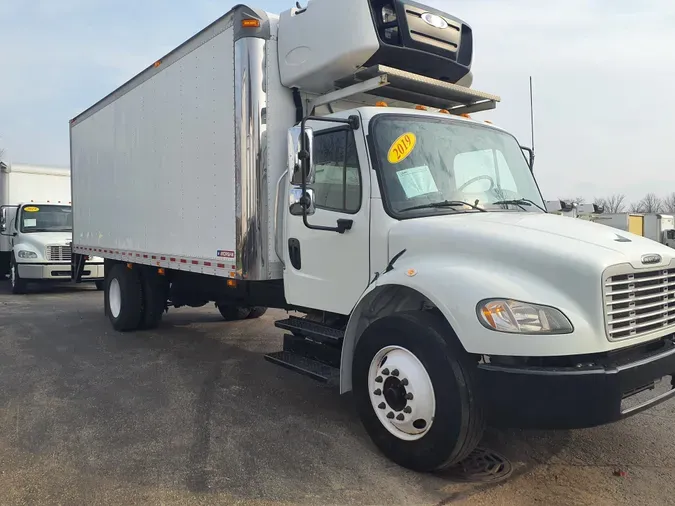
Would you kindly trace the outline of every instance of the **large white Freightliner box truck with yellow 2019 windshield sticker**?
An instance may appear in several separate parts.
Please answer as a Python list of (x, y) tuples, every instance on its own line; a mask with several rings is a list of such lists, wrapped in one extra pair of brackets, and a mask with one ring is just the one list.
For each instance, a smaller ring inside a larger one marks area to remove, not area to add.
[(671, 398), (673, 250), (542, 209), (514, 136), (466, 117), (499, 100), (472, 45), (402, 0), (237, 6), (72, 119), (74, 248), (106, 259), (112, 326), (300, 312), (266, 358), (353, 392), (422, 471), (485, 424)]

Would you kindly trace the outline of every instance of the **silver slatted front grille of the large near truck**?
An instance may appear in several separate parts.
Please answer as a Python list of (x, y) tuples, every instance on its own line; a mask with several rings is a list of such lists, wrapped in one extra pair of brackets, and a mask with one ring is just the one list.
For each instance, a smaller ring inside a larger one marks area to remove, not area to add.
[(610, 276), (604, 293), (610, 340), (639, 337), (675, 324), (675, 269)]

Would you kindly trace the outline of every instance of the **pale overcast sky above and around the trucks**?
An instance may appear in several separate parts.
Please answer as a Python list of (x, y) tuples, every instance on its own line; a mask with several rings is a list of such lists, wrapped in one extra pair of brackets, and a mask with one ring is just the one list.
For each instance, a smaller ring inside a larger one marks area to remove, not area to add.
[[(337, 0), (336, 0), (337, 1)], [(270, 12), (294, 0), (251, 0)], [(303, 0), (303, 4), (305, 1)], [(481, 113), (529, 144), (546, 199), (675, 191), (675, 2), (427, 0), (474, 30)], [(0, 148), (69, 164), (68, 120), (224, 14), (229, 1), (0, 0)]]

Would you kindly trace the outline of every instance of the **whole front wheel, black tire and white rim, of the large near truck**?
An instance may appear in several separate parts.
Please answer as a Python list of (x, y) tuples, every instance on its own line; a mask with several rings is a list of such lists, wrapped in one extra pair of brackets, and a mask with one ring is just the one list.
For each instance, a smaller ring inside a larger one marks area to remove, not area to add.
[(435, 471), (467, 457), (484, 421), (472, 363), (440, 317), (414, 311), (377, 320), (354, 351), (361, 421), (397, 464)]

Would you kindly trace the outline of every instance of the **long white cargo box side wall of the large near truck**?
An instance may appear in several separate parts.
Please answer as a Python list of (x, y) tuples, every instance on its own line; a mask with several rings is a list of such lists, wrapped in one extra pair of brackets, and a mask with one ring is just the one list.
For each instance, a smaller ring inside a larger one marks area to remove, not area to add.
[(234, 37), (231, 19), (222, 20), (228, 21), (71, 123), (76, 247), (187, 265), (199, 260), (200, 268), (227, 259), (232, 270)]

